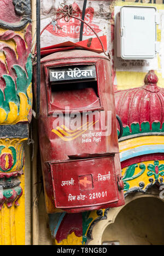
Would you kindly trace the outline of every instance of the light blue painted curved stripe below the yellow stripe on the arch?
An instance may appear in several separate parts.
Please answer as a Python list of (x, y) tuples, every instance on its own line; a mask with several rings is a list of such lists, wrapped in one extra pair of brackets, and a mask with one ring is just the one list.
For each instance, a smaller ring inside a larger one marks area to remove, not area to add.
[(139, 146), (139, 147), (135, 147), (134, 149), (121, 152), (120, 161), (123, 162), (127, 159), (130, 159), (136, 156), (148, 155), (152, 153), (164, 153), (164, 145), (162, 144), (145, 145), (145, 146)]

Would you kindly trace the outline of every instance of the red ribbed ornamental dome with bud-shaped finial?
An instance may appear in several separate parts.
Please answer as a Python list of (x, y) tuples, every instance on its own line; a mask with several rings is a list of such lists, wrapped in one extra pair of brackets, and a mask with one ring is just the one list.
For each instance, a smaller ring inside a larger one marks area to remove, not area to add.
[(116, 113), (120, 116), (124, 127), (132, 123), (149, 122), (150, 130), (153, 122), (164, 122), (164, 89), (157, 86), (158, 78), (154, 70), (145, 76), (145, 85), (139, 88), (119, 90), (115, 92)]

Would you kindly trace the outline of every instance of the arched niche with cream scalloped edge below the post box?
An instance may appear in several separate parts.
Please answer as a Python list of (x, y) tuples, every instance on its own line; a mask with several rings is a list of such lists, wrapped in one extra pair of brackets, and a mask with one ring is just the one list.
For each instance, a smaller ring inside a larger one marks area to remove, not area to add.
[(93, 227), (93, 239), (88, 244), (164, 244), (164, 200), (160, 192), (129, 195), (124, 206), (109, 209), (107, 219)]

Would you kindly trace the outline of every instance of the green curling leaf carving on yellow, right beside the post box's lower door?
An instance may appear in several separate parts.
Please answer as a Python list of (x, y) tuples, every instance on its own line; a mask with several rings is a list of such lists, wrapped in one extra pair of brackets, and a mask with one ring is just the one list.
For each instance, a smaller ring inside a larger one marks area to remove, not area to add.
[(131, 166), (127, 167), (126, 172), (122, 178), (122, 180), (124, 181), (124, 191), (127, 191), (130, 187), (130, 184), (128, 184), (127, 181), (138, 178), (140, 175), (142, 175), (144, 173), (144, 171), (146, 169), (145, 164), (140, 163), (139, 168), (141, 169), (141, 171), (139, 173), (137, 173), (136, 175), (134, 175), (137, 167), (138, 167), (138, 164), (132, 164)]

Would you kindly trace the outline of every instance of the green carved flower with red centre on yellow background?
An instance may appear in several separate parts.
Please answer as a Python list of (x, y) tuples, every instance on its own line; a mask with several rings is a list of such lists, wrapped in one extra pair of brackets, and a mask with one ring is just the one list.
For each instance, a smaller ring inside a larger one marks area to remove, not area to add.
[(149, 164), (148, 165), (148, 170), (147, 172), (148, 176), (154, 175), (154, 178), (157, 180), (159, 179), (159, 175), (164, 176), (164, 164), (159, 165), (159, 161), (154, 161), (154, 164)]

